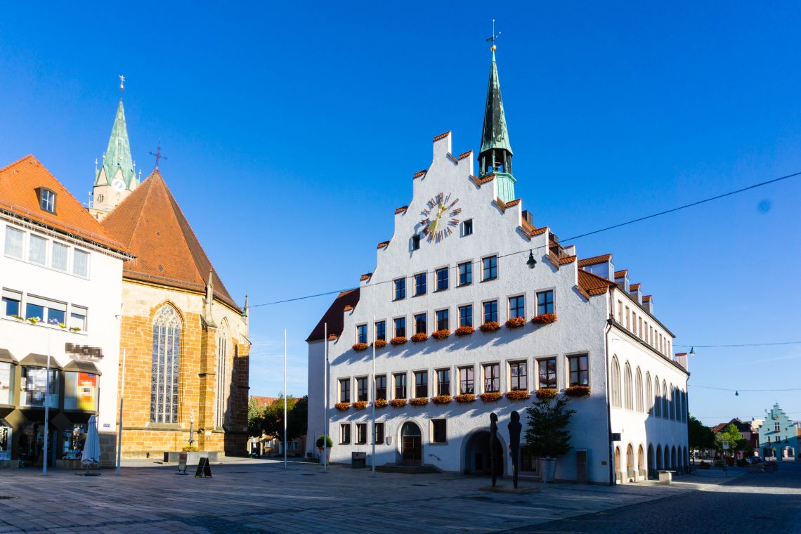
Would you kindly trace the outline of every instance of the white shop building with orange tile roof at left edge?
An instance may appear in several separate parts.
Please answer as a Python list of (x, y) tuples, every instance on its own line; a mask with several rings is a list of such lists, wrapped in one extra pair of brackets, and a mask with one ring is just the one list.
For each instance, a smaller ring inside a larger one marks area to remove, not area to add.
[(30, 155), (0, 169), (0, 251), (0, 467), (42, 464), (46, 404), (50, 464), (78, 464), (93, 414), (108, 464), (131, 254)]

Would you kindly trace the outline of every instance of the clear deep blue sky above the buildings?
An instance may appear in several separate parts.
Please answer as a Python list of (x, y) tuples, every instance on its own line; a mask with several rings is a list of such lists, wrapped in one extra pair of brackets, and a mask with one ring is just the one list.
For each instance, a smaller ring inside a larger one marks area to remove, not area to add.
[[(0, 8), (0, 165), (34, 154), (87, 199), (119, 92), (228, 290), (265, 303), (352, 287), (430, 162), (481, 135), (491, 19), (517, 195), (578, 235), (801, 171), (801, 7), (731, 2), (138, 2)], [(678, 344), (801, 340), (801, 179), (580, 239), (614, 252)], [(251, 391), (306, 391), (330, 297), (252, 310)], [(706, 424), (801, 420), (801, 345), (706, 348)]]

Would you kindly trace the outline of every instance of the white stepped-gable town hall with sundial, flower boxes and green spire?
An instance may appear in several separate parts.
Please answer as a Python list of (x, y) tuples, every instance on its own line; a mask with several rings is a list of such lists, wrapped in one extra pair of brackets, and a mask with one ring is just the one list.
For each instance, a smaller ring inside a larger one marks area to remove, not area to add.
[[(494, 47), (477, 171), (473, 151), (453, 155), (452, 143), (450, 132), (434, 138), (433, 161), (396, 209), (375, 271), (341, 293), (307, 339), (309, 435), (328, 421), (332, 462), (365, 452), (371, 464), (375, 439), (379, 466), (488, 472), (495, 412), (508, 475), (510, 412), (525, 432), (537, 390), (589, 388), (570, 400), (572, 450), (557, 480), (633, 482), (686, 466), (686, 355), (671, 355), (674, 335), (612, 255), (578, 259), (522, 210)], [(538, 476), (535, 460), (524, 451), (521, 474)]]

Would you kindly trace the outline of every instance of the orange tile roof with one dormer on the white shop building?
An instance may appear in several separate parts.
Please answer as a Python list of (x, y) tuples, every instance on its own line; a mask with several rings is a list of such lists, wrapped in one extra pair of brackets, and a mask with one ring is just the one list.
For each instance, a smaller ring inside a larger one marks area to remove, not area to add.
[[(56, 195), (55, 213), (42, 210), (36, 189), (44, 187)], [(73, 234), (103, 247), (131, 255), (131, 251), (109, 234), (70, 191), (32, 155), (0, 169), (0, 209), (9, 211), (55, 231)]]

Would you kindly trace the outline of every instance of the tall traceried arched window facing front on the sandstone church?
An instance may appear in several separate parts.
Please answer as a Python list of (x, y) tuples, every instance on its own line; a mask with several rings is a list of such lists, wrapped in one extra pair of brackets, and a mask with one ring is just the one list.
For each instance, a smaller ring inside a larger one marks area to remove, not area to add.
[(181, 319), (169, 304), (153, 319), (151, 358), (151, 421), (178, 423)]

